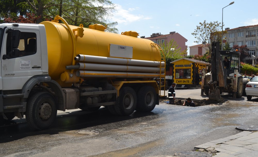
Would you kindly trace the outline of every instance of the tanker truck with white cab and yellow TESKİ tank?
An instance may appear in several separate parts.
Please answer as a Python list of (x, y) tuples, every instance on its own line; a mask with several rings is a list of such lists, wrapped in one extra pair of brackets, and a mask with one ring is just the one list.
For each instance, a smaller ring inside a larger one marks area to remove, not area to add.
[(26, 115), (30, 127), (45, 129), (57, 110), (152, 111), (165, 86), (153, 81), (165, 78), (163, 51), (137, 32), (105, 29), (68, 25), (60, 16), (0, 24), (0, 121)]

